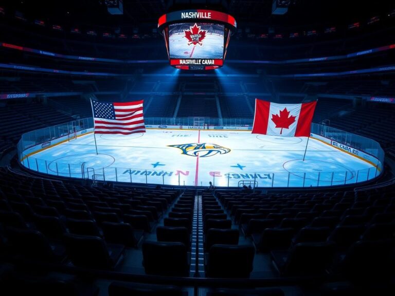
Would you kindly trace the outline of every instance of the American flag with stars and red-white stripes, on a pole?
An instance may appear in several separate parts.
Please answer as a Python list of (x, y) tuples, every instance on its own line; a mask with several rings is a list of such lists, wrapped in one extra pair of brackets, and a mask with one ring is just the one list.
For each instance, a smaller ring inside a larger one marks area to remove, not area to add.
[(92, 102), (95, 134), (145, 133), (143, 100), (134, 102)]

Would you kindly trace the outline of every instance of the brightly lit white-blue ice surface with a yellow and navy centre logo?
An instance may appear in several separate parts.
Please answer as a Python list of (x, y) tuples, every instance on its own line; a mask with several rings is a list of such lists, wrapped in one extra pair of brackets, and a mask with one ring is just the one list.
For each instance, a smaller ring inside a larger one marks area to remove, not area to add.
[(310, 138), (224, 130), (81, 135), (23, 158), (31, 170), (73, 178), (181, 186), (315, 187), (362, 182), (375, 165)]

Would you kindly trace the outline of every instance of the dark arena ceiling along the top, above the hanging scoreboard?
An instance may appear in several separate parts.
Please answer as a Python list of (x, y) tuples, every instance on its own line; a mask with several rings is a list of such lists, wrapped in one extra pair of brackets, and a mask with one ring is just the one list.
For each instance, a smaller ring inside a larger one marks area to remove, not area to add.
[(273, 0), (123, 0), (123, 15), (107, 12), (104, 0), (0, 0), (21, 10), (28, 17), (47, 20), (64, 19), (68, 23), (92, 25), (156, 24), (158, 17), (174, 9), (207, 7), (234, 15), (239, 24), (303, 26), (322, 23), (349, 23), (369, 18), (395, 8), (387, 0), (291, 0), (288, 13), (272, 14)]

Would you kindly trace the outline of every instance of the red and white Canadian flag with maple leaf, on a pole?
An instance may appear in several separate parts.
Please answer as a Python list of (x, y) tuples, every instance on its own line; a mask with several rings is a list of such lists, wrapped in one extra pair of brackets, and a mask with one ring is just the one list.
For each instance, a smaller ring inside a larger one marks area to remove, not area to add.
[(317, 101), (301, 104), (276, 104), (255, 100), (253, 134), (281, 137), (310, 137)]

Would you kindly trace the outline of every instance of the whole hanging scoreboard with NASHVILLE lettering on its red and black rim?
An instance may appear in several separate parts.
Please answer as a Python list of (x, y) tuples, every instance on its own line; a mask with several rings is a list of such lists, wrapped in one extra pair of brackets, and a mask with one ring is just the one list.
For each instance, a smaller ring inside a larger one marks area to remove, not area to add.
[(170, 65), (183, 70), (222, 67), (230, 35), (236, 28), (233, 16), (203, 9), (170, 12), (158, 21)]

